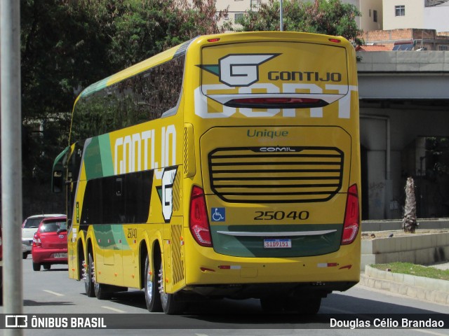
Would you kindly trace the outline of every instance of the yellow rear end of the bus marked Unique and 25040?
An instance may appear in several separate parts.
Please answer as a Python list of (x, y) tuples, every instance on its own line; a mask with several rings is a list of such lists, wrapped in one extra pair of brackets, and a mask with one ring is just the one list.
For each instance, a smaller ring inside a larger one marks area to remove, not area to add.
[(316, 34), (223, 34), (189, 46), (189, 290), (316, 312), (321, 297), (358, 282), (355, 62), (347, 40)]

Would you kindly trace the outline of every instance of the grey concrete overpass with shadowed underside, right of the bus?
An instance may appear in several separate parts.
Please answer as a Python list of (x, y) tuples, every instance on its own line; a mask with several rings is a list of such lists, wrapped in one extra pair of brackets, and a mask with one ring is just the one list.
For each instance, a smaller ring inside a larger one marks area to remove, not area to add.
[[(358, 52), (363, 218), (449, 217), (449, 52)], [(438, 153), (434, 155), (433, 153)]]

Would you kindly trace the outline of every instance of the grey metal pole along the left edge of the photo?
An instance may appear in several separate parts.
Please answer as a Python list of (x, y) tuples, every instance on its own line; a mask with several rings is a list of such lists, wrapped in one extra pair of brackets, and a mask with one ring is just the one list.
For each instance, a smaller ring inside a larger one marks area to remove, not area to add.
[[(4, 314), (22, 314), (22, 113), (20, 1), (0, 1), (1, 224)], [(4, 335), (23, 335), (20, 328)]]

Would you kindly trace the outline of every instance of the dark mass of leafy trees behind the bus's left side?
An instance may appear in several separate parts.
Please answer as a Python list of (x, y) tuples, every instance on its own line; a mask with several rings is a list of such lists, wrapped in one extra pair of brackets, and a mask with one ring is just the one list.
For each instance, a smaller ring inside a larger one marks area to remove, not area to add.
[(215, 11), (215, 0), (20, 0), (25, 213), (55, 211), (44, 202), (55, 202), (51, 168), (68, 144), (79, 92), (194, 36), (222, 31), (224, 13)]

